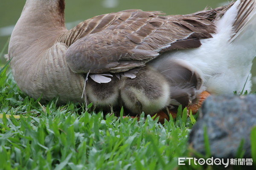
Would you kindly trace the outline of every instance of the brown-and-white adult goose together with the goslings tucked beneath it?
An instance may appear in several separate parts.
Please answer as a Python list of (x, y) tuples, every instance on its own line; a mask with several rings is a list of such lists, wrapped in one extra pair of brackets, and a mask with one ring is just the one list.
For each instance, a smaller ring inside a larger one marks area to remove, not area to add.
[(153, 114), (196, 104), (203, 91), (250, 91), (255, 0), (176, 16), (131, 9), (71, 30), (64, 6), (64, 0), (26, 0), (12, 32), (7, 58), (17, 85), (33, 98), (85, 98)]

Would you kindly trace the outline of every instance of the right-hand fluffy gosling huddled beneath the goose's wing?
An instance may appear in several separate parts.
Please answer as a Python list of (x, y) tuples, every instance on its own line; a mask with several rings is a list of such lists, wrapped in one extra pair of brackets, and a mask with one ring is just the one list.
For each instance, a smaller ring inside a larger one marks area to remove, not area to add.
[(170, 102), (169, 83), (151, 67), (140, 69), (134, 79), (122, 77), (120, 96), (131, 113), (155, 114)]

